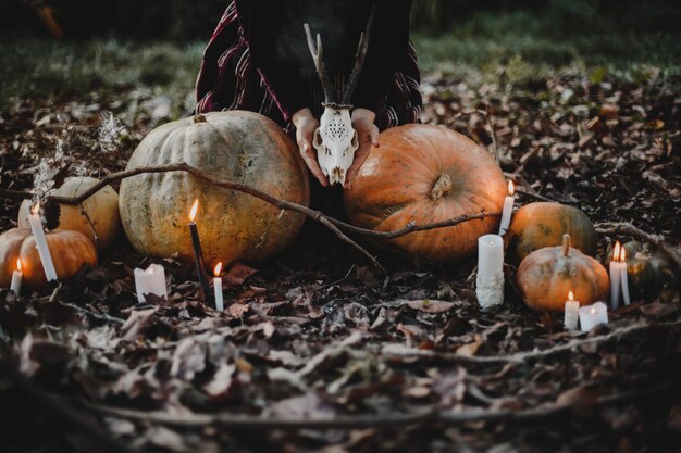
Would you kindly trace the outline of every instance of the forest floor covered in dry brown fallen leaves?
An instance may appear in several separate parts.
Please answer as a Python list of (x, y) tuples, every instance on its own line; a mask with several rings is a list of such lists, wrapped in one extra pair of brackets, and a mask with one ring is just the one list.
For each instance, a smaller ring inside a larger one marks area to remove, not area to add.
[[(168, 49), (116, 60), (106, 46), (55, 46), (23, 61), (24, 80), (2, 91), (0, 189), (30, 190), (41, 165), (123, 169), (147, 133), (190, 112), (191, 66), (169, 70)], [(197, 49), (179, 52), (196, 63)], [(538, 194), (679, 246), (678, 68), (540, 71), (513, 58), (466, 73), (429, 64), (422, 88), (424, 123), (495, 139), (530, 193), (518, 204)], [(17, 207), (0, 205), (0, 230)], [(604, 262), (611, 240), (630, 238), (600, 239)], [(483, 312), (474, 260), (379, 260), (387, 276), (306, 225), (278, 259), (231, 270), (224, 313), (198, 300), (190, 265), (128, 246), (54, 297), (1, 290), (0, 451), (678, 451), (679, 288), (569, 332), (561, 314), (523, 305), (510, 265), (504, 305)], [(170, 299), (138, 304), (133, 269), (151, 262)]]

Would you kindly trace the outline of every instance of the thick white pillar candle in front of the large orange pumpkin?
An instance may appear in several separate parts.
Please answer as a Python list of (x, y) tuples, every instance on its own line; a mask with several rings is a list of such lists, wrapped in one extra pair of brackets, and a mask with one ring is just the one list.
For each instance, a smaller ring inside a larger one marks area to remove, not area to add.
[(504, 240), (498, 235), (485, 235), (478, 239), (475, 293), (483, 309), (504, 302)]

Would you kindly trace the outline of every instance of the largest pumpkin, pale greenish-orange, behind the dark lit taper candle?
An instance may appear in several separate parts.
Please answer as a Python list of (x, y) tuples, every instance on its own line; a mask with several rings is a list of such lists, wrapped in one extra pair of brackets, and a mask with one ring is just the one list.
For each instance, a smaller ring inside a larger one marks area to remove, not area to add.
[[(293, 140), (271, 119), (251, 112), (215, 112), (168, 123), (152, 130), (133, 153), (127, 169), (186, 162), (219, 178), (272, 197), (309, 204), (308, 174)], [(251, 196), (210, 186), (184, 173), (143, 174), (121, 183), (125, 234), (140, 253), (191, 260), (187, 228), (194, 200), (207, 264), (258, 262), (297, 236), (305, 217)]]

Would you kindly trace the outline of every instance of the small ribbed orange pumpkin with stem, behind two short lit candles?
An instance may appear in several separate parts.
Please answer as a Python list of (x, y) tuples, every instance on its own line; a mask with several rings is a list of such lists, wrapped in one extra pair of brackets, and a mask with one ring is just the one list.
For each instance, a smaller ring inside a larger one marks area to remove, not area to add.
[(570, 291), (581, 305), (605, 301), (610, 278), (600, 263), (564, 243), (535, 250), (516, 275), (525, 304), (536, 311), (561, 312)]

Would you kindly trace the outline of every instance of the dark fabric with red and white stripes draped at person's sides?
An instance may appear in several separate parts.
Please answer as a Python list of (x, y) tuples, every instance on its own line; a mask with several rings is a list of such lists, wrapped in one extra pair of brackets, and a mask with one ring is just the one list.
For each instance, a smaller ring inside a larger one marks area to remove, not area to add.
[[(376, 125), (383, 130), (407, 123), (417, 123), (421, 113), (420, 73), (413, 46), (408, 51), (387, 87), (387, 95), (381, 111), (376, 112)], [(302, 76), (301, 76), (302, 77)], [(317, 114), (321, 111), (323, 95), (319, 80), (306, 76), (314, 105), (309, 108)], [(247, 110), (265, 115), (292, 130), (293, 127), (277, 102), (276, 92), (251, 64), (248, 42), (239, 26), (237, 9), (232, 2), (203, 53), (196, 83), (197, 113), (221, 110)]]

